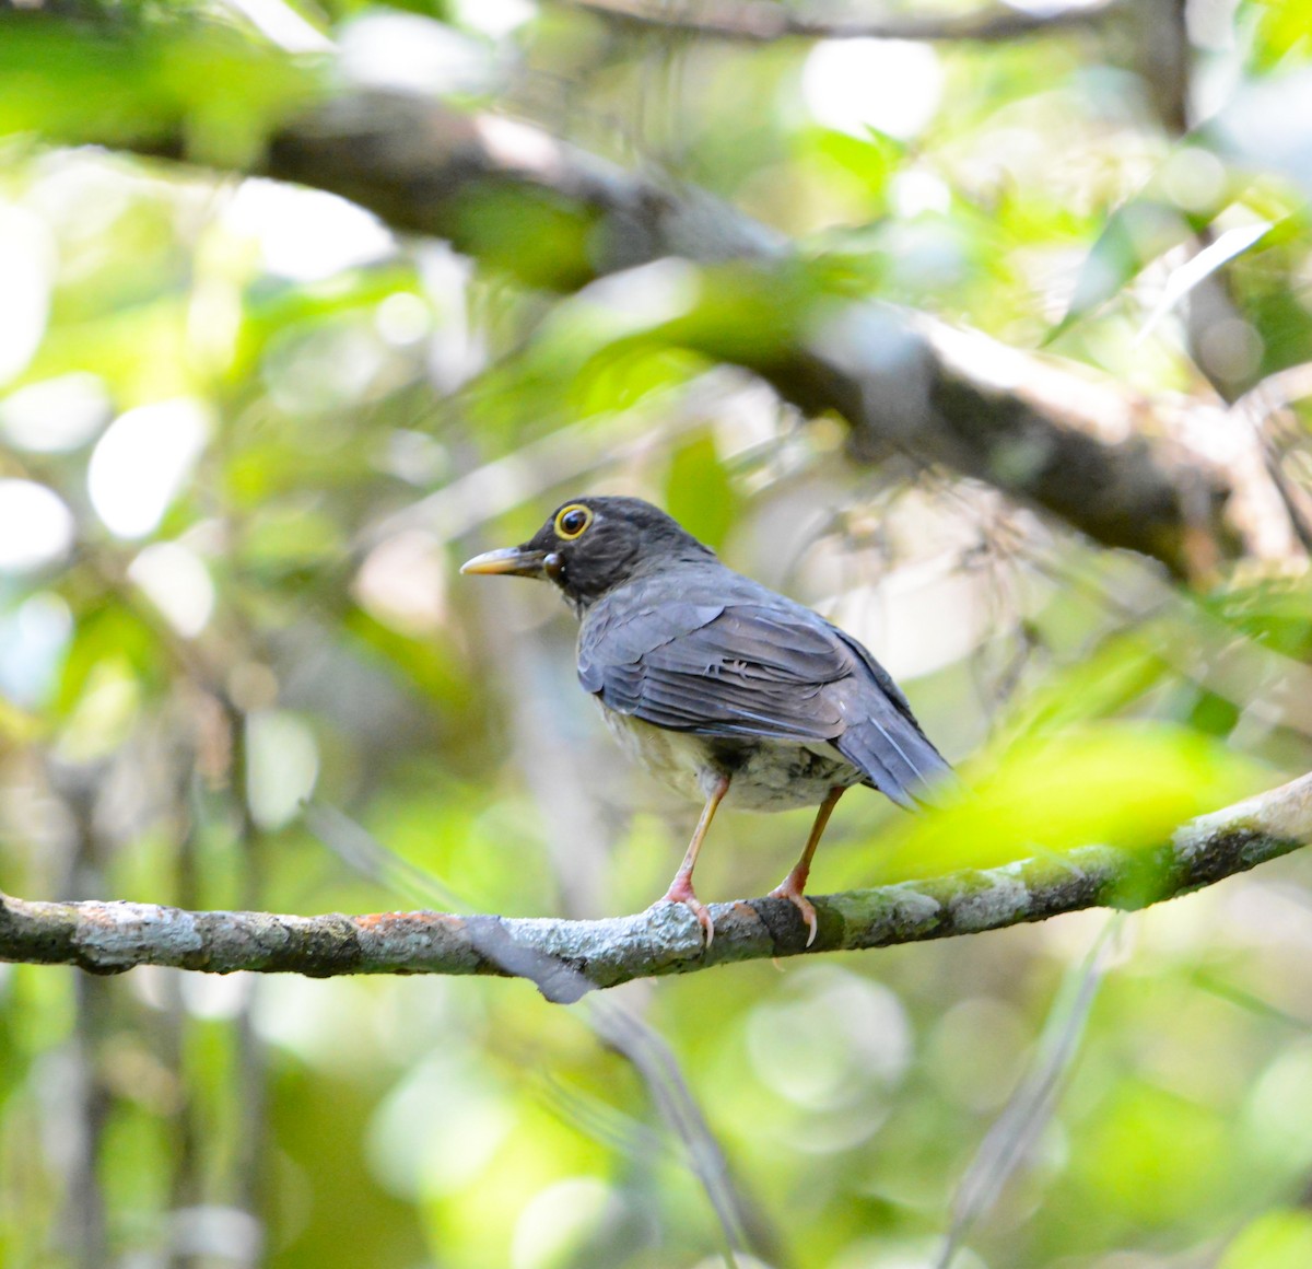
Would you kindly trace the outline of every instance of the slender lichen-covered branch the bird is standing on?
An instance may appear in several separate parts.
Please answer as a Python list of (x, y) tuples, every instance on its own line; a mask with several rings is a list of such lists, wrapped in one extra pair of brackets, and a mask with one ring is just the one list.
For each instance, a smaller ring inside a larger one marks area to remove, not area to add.
[(598, 921), (387, 912), (279, 916), (143, 903), (4, 898), (0, 959), (115, 974), (163, 965), (211, 974), (493, 974), (573, 1001), (635, 978), (820, 951), (884, 947), (1040, 921), (1081, 908), (1173, 899), (1312, 841), (1312, 774), (1190, 820), (1156, 850), (1085, 846), (987, 871), (813, 898), (811, 947), (792, 904), (711, 905), (715, 941), (677, 904)]

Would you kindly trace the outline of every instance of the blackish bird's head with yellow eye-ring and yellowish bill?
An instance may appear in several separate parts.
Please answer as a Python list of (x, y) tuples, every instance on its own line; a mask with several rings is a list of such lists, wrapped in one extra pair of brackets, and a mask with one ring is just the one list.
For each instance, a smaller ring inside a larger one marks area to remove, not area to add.
[(487, 551), (463, 573), (544, 577), (583, 612), (607, 591), (680, 560), (714, 559), (660, 508), (639, 497), (575, 497), (521, 546)]

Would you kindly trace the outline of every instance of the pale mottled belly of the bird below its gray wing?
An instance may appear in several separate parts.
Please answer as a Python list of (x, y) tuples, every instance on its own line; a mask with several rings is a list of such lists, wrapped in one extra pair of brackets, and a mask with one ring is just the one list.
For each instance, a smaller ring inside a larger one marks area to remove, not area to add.
[(726, 774), (729, 791), (724, 806), (744, 811), (819, 806), (836, 785), (849, 787), (863, 778), (825, 744), (811, 748), (774, 740), (710, 740), (605, 706), (601, 715), (634, 761), (691, 802), (705, 802)]

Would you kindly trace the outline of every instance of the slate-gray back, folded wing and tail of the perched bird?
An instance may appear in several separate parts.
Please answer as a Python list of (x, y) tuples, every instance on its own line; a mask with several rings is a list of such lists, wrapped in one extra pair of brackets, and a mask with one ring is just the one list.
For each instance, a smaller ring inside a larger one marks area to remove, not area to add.
[(883, 668), (807, 609), (666, 600), (597, 617), (579, 678), (607, 709), (703, 736), (829, 741), (904, 806), (946, 769)]

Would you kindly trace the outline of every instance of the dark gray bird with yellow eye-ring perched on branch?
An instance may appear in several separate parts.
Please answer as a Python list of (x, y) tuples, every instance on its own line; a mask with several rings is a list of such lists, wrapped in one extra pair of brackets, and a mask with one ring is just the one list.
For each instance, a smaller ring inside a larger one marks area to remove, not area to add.
[[(638, 497), (575, 497), (520, 546), (462, 573), (554, 583), (579, 618), (579, 681), (625, 749), (702, 812), (664, 902), (715, 937), (693, 869), (716, 810), (819, 806), (798, 862), (770, 891), (807, 929), (811, 861), (842, 794), (865, 785), (914, 810), (949, 764), (888, 672), (819, 613), (735, 572)], [(657, 900), (657, 903), (663, 902)]]

